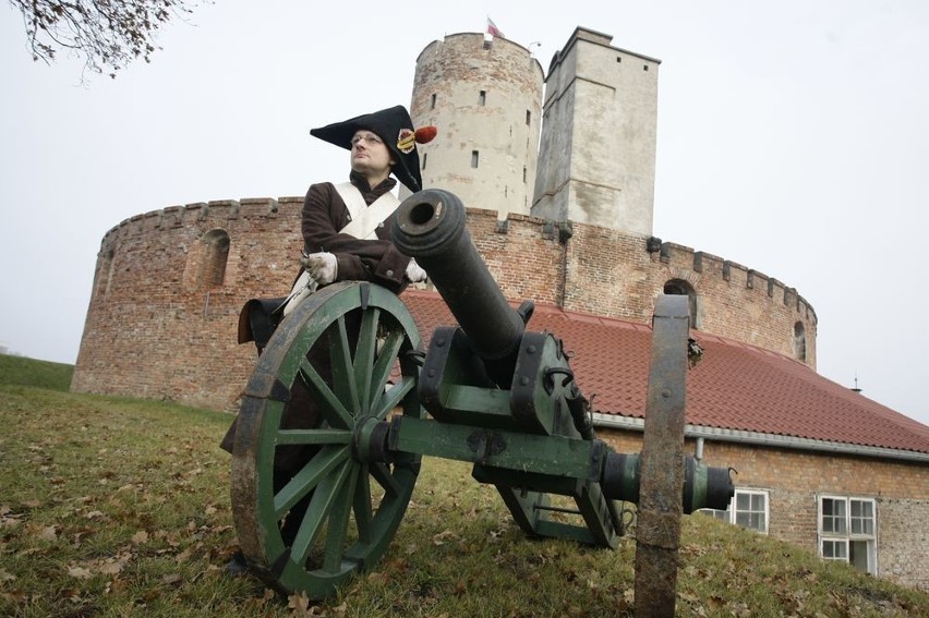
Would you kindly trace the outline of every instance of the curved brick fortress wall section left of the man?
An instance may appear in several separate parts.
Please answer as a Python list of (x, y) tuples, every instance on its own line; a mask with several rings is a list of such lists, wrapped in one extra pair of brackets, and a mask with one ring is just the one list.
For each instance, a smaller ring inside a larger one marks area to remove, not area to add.
[(107, 232), (71, 389), (234, 410), (255, 359), (239, 310), (289, 291), (302, 203), (174, 206)]

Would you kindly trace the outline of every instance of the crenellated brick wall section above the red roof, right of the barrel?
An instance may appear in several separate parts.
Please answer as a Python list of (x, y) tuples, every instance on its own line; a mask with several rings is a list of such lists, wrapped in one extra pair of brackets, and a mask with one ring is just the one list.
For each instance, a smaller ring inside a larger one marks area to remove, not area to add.
[(798, 358), (799, 323), (801, 360), (816, 368), (816, 312), (794, 288), (758, 270), (669, 242), (650, 252), (649, 239), (598, 226), (522, 215), (498, 221), (478, 208), (468, 209), (468, 226), (509, 298), (649, 324), (665, 283), (681, 279), (696, 292), (698, 330)]

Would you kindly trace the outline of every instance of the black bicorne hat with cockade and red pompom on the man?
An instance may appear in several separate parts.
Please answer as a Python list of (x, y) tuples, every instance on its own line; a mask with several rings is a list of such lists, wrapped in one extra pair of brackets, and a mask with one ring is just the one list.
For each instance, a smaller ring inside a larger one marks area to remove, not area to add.
[(351, 150), (351, 138), (357, 131), (362, 129), (376, 133), (394, 155), (397, 163), (391, 168), (391, 171), (397, 180), (413, 193), (422, 190), (423, 181), (420, 177), (420, 156), (417, 152), (417, 143), (425, 144), (435, 137), (435, 128), (424, 126), (414, 130), (413, 121), (407, 108), (398, 105), (319, 129), (311, 129), (310, 134), (329, 144)]

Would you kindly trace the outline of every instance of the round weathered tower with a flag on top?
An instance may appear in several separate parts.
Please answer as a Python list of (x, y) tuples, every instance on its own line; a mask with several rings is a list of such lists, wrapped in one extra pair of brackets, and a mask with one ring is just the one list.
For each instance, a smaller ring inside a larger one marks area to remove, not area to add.
[(410, 116), (438, 136), (420, 146), (423, 187), (466, 206), (528, 215), (532, 206), (543, 74), (529, 50), (504, 38), (460, 33), (417, 59)]

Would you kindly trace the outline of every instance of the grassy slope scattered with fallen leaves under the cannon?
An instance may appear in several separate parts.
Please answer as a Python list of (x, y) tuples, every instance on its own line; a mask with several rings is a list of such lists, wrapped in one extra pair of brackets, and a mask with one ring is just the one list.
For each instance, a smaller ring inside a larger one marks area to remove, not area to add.
[[(230, 416), (0, 385), (0, 616), (625, 616), (618, 550), (528, 540), (469, 466), (425, 459), (379, 565), (326, 603), (230, 578)], [(28, 380), (25, 380), (28, 381)], [(53, 381), (53, 380), (52, 380)], [(925, 616), (929, 595), (685, 518), (678, 616)]]

